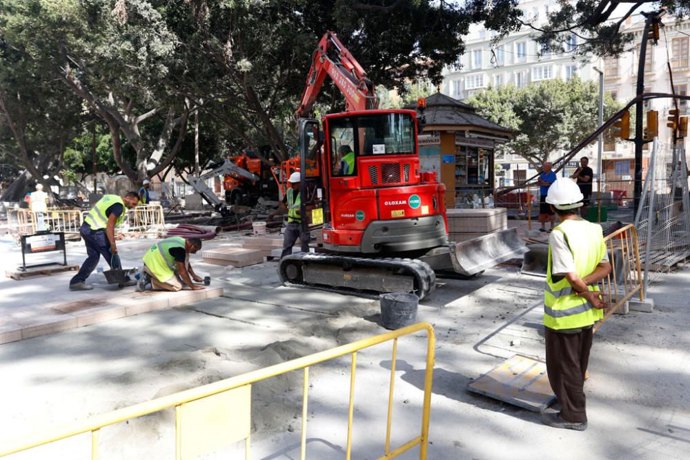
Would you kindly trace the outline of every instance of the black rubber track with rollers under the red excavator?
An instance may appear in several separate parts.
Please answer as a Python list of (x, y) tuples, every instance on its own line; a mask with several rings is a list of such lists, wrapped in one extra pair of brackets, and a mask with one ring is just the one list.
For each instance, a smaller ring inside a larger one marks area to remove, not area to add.
[(407, 291), (424, 299), (436, 287), (434, 271), (416, 259), (298, 252), (280, 259), (278, 273), (286, 285), (366, 297)]

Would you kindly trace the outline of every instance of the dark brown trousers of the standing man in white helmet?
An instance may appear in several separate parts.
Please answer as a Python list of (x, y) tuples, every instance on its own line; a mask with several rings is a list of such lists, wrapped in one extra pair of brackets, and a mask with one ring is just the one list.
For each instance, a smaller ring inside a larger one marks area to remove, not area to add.
[(565, 421), (587, 421), (584, 373), (592, 348), (592, 334), (591, 327), (576, 334), (544, 328), (546, 372), (551, 390), (561, 405), (561, 418)]

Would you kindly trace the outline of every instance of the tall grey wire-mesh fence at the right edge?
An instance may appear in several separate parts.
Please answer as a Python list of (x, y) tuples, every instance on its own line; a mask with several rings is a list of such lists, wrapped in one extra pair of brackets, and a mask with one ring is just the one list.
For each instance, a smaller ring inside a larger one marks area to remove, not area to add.
[(635, 226), (644, 282), (690, 257), (690, 199), (683, 149), (654, 141)]

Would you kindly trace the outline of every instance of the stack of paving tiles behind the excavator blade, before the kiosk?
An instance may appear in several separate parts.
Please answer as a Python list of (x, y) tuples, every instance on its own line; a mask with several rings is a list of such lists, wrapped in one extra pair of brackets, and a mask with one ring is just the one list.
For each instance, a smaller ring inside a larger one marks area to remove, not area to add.
[(508, 214), (505, 208), (449, 209), (446, 210), (446, 214), (448, 238), (456, 243), (508, 228)]

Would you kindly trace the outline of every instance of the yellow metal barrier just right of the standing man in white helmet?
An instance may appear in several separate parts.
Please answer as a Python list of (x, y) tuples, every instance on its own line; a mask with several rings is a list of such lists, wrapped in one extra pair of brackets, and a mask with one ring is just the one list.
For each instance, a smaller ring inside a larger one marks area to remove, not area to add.
[(635, 226), (629, 224), (613, 232), (604, 238), (604, 243), (611, 254), (611, 273), (602, 281), (602, 292), (607, 294), (611, 306), (607, 308), (604, 319), (594, 326), (595, 331), (633, 295), (639, 294), (640, 301), (644, 301), (640, 246)]

